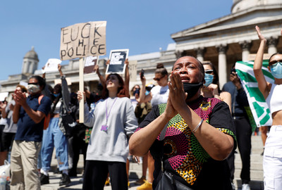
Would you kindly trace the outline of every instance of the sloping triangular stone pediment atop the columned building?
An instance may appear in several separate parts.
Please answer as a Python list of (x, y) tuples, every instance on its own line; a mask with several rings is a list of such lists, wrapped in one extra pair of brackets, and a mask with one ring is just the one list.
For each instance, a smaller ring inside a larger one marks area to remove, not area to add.
[(255, 30), (255, 25), (268, 23), (269, 20), (271, 22), (276, 21), (281, 26), (281, 11), (282, 4), (255, 6), (176, 32), (171, 34), (171, 38), (178, 43), (189, 39), (195, 40), (197, 37), (202, 38), (224, 34), (226, 32), (230, 33), (232, 30), (238, 30), (241, 27), (252, 27), (252, 30)]

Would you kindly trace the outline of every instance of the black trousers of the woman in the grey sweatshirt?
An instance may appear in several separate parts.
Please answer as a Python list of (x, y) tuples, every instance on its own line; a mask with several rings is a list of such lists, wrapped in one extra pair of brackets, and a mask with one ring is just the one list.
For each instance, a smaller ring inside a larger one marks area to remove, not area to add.
[(125, 163), (97, 160), (86, 160), (82, 189), (104, 189), (108, 172), (110, 175), (111, 189), (128, 189), (128, 176), (126, 174)]

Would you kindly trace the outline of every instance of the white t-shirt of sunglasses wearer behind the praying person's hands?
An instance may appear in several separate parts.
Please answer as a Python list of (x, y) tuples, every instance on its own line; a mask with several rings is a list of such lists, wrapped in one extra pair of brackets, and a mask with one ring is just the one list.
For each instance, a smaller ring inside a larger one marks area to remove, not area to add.
[(158, 105), (160, 103), (166, 103), (168, 99), (168, 85), (166, 87), (156, 86), (151, 89), (152, 93), (152, 106)]

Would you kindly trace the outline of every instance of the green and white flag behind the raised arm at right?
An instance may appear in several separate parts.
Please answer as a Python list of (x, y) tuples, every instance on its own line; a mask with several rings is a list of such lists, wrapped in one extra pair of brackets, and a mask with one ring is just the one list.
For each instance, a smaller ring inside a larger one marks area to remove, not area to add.
[[(235, 64), (235, 70), (247, 94), (247, 100), (249, 101), (250, 110), (252, 111), (252, 116), (255, 119), (255, 124), (257, 125), (257, 127), (271, 126), (272, 119), (270, 110), (266, 104), (264, 96), (259, 91), (253, 66), (254, 61), (238, 61)], [(262, 63), (262, 72), (264, 73), (264, 77), (267, 82), (274, 83), (274, 77), (267, 69), (267, 66), (268, 61), (264, 60)]]

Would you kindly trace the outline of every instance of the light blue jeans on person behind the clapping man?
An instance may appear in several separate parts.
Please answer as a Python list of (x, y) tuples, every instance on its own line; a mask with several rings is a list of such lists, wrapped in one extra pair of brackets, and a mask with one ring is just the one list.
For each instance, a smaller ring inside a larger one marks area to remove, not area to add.
[(56, 148), (59, 170), (68, 170), (68, 139), (59, 128), (59, 118), (51, 118), (49, 127), (43, 132), (41, 159), (42, 170), (50, 170), (52, 153)]

